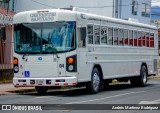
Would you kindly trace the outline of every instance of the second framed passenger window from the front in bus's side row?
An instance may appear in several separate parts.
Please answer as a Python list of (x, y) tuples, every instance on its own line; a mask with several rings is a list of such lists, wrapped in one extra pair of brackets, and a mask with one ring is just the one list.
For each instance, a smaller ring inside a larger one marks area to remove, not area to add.
[(100, 26), (94, 25), (94, 44), (100, 44)]

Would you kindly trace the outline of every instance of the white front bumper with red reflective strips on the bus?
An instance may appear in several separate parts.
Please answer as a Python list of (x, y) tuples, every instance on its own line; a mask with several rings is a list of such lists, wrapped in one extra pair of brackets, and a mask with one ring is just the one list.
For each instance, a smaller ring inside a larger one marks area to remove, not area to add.
[(75, 86), (77, 77), (56, 77), (56, 78), (13, 78), (15, 87), (34, 86)]

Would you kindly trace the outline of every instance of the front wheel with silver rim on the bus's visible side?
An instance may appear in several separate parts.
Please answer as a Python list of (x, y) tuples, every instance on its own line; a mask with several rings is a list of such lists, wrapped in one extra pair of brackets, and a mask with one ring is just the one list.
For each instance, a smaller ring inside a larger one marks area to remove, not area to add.
[(87, 89), (89, 89), (89, 91), (92, 94), (96, 94), (100, 90), (100, 82), (101, 82), (101, 79), (100, 79), (99, 71), (97, 68), (94, 68), (91, 75), (91, 82), (87, 84), (86, 87)]

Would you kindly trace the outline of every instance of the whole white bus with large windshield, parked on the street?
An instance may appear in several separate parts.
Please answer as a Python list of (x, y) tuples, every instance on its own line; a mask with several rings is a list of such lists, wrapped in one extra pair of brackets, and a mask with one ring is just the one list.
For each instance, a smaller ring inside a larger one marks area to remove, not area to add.
[(145, 86), (157, 73), (157, 28), (75, 10), (45, 9), (14, 16), (16, 87), (85, 85), (98, 93), (113, 79)]

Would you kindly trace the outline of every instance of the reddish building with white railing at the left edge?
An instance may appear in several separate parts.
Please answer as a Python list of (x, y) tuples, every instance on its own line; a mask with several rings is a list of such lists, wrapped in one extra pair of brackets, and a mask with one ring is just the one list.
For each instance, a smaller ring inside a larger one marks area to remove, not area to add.
[(0, 0), (0, 70), (12, 68), (14, 0)]

